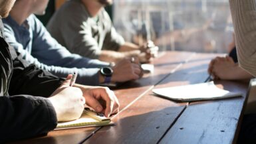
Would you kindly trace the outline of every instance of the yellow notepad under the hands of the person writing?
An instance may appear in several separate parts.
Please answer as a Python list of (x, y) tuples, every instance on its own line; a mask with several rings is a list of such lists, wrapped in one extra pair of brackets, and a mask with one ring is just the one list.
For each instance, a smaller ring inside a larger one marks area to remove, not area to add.
[(89, 108), (84, 108), (84, 111), (79, 119), (74, 121), (59, 122), (55, 130), (104, 125), (114, 125), (114, 123), (111, 121), (111, 119), (104, 117), (104, 114), (96, 113)]

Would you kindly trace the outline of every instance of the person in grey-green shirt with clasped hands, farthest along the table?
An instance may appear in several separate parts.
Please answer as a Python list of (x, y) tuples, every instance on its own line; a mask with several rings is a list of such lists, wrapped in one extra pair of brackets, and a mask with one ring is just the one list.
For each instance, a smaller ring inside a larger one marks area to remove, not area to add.
[[(72, 0), (53, 15), (47, 29), (70, 52), (106, 62), (117, 62), (125, 57), (138, 56), (149, 62), (158, 47), (153, 42), (138, 46), (125, 42), (112, 25), (104, 6), (112, 0)], [(148, 46), (152, 48), (148, 48)]]

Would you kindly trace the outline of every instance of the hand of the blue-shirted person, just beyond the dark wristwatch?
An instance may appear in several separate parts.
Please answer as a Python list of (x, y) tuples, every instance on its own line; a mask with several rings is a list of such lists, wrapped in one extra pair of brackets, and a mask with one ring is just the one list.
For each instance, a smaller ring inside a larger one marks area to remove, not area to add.
[(137, 80), (143, 75), (139, 60), (135, 59), (131, 62), (130, 58), (126, 58), (116, 63), (113, 67), (112, 82), (126, 82), (128, 80)]

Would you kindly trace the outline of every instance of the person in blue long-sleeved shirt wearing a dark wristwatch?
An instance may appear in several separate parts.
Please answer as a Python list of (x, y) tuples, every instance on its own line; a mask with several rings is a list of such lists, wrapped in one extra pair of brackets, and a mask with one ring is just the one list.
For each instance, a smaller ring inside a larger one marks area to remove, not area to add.
[(127, 58), (120, 60), (112, 68), (106, 68), (109, 66), (108, 62), (71, 54), (47, 32), (43, 24), (33, 15), (33, 13), (42, 15), (48, 2), (47, 0), (17, 0), (10, 16), (3, 19), (7, 42), (25, 60), (60, 77), (76, 71), (78, 72), (77, 82), (86, 85), (126, 82), (137, 80), (142, 76), (138, 60), (132, 63)]

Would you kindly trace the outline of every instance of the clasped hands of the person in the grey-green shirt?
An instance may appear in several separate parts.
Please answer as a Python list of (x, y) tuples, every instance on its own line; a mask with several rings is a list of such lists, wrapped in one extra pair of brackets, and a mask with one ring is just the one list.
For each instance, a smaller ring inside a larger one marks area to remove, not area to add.
[(146, 44), (140, 47), (140, 62), (150, 62), (152, 58), (158, 55), (158, 46), (155, 46), (154, 42), (148, 40)]

